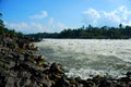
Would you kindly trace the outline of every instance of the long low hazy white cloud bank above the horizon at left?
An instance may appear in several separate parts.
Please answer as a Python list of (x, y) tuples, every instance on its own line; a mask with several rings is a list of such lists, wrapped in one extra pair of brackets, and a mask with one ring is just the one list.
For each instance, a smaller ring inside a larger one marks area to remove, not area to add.
[(22, 32), (24, 34), (34, 34), (34, 33), (53, 33), (53, 32), (60, 32), (67, 26), (63, 23), (55, 23), (53, 17), (50, 17), (47, 24), (41, 24), (41, 23), (4, 23), (7, 27), (11, 29), (15, 29), (16, 32)]

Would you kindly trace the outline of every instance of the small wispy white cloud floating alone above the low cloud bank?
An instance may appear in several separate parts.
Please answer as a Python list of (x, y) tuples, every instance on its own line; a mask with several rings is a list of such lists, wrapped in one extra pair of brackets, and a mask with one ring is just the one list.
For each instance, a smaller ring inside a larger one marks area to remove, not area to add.
[(32, 15), (32, 16), (29, 16), (29, 18), (31, 20), (41, 20), (41, 18), (45, 18), (47, 16), (48, 16), (47, 11), (41, 11), (41, 13)]

